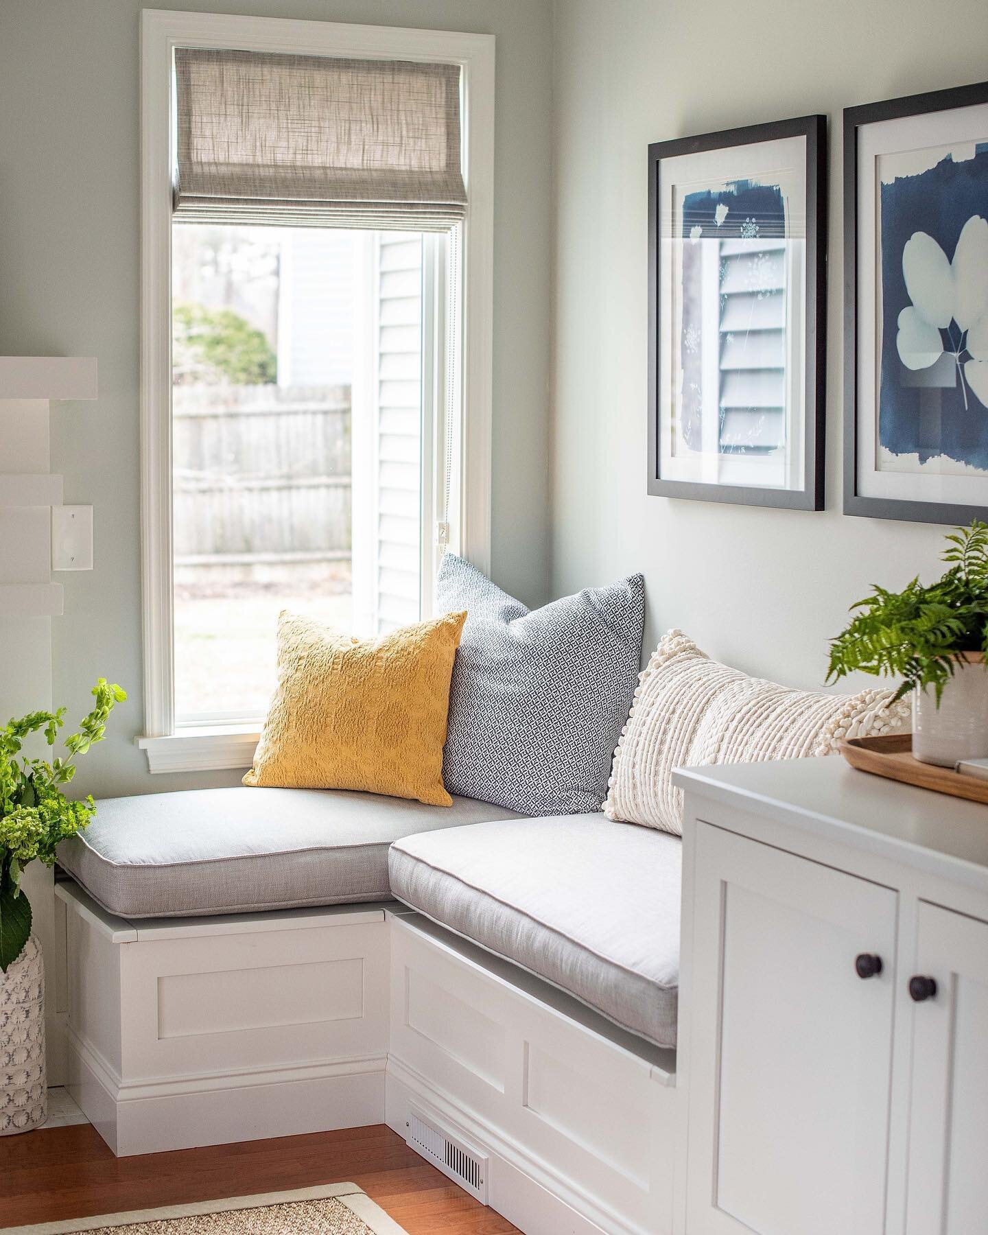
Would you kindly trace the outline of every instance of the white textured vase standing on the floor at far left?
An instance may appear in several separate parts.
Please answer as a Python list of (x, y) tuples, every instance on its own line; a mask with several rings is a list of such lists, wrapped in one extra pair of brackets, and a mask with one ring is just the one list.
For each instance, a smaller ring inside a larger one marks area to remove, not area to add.
[(0, 972), (0, 1136), (30, 1132), (47, 1115), (44, 960), (32, 935)]

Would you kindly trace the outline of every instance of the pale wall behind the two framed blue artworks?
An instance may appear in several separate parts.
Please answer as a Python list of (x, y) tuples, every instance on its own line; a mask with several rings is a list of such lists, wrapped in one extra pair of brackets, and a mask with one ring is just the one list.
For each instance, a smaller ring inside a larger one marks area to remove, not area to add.
[[(557, 0), (552, 584), (642, 569), (669, 626), (794, 685), (874, 580), (934, 568), (942, 529), (841, 504), (841, 109), (988, 77), (984, 0)], [(808, 112), (831, 126), (827, 511), (648, 498), (646, 147)]]

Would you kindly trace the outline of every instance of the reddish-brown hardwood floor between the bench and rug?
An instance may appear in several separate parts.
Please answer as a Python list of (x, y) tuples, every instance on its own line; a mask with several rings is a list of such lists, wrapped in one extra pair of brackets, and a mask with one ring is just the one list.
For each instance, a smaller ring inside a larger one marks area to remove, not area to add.
[(353, 1182), (409, 1235), (516, 1231), (383, 1124), (116, 1158), (89, 1125), (0, 1139), (0, 1228)]

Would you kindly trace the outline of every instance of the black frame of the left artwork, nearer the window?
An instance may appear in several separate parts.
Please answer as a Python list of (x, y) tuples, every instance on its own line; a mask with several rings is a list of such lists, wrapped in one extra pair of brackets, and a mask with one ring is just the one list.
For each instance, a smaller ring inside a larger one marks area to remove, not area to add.
[[(805, 380), (803, 406), (803, 487), (800, 489), (714, 484), (662, 475), (659, 391), (659, 312), (662, 246), (659, 243), (659, 165), (663, 159), (732, 146), (802, 137), (805, 141), (806, 263), (803, 330)], [(699, 501), (823, 510), (825, 506), (826, 435), (826, 243), (827, 243), (827, 127), (826, 116), (748, 125), (698, 137), (653, 142), (648, 147), (648, 493)]]

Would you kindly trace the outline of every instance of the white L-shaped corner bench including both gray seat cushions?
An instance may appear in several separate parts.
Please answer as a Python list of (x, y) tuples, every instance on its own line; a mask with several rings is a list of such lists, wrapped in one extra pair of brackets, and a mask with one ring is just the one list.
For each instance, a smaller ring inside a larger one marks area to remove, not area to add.
[(61, 852), (69, 1088), (114, 1151), (387, 1121), (524, 1229), (667, 1231), (679, 841), (299, 793), (105, 802)]

